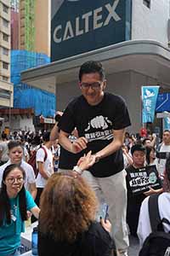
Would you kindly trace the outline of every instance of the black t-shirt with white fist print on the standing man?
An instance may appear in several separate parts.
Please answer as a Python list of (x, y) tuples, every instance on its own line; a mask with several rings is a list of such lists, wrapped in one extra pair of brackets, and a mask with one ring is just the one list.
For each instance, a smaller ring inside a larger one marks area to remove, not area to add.
[[(127, 107), (122, 97), (105, 93), (98, 105), (91, 106), (83, 96), (77, 97), (65, 109), (59, 121), (59, 129), (71, 133), (77, 127), (79, 137), (88, 139), (88, 148), (95, 154), (113, 140), (113, 130), (121, 130), (130, 124)], [(117, 150), (94, 164), (89, 171), (94, 177), (109, 177), (123, 169), (122, 150)]]

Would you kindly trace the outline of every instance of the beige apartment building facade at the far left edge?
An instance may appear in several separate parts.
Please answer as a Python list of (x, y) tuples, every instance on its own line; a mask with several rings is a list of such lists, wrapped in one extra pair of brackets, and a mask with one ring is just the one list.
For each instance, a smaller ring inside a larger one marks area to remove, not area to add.
[(10, 83), (10, 1), (0, 1), (0, 106), (13, 107)]

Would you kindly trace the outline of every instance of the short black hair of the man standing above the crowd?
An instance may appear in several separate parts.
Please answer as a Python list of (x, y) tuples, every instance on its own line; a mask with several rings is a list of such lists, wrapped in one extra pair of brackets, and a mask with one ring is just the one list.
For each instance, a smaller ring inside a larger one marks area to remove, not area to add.
[(79, 81), (82, 81), (82, 75), (85, 73), (99, 73), (100, 79), (105, 79), (105, 70), (99, 61), (87, 61), (82, 64), (79, 71)]

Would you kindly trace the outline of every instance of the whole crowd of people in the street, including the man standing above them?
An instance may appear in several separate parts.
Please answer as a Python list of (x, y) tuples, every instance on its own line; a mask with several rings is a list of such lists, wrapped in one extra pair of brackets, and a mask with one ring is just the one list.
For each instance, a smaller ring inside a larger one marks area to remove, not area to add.
[[(162, 140), (150, 131), (126, 132), (126, 102), (105, 92), (98, 61), (82, 64), (79, 87), (82, 95), (56, 114), (52, 131), (2, 134), (2, 256), (20, 255), (20, 233), (30, 217), (39, 219), (39, 256), (127, 256), (129, 234), (142, 247), (151, 232), (144, 224), (150, 222), (150, 195), (161, 194), (161, 218), (170, 220), (170, 131), (163, 131)], [(152, 186), (156, 180), (159, 185)], [(103, 202), (108, 217), (97, 221)]]

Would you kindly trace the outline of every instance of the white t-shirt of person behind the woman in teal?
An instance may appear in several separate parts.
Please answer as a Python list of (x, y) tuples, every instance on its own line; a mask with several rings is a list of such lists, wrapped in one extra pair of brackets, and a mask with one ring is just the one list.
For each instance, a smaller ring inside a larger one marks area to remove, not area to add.
[[(2, 179), (3, 179), (3, 171), (5, 170), (5, 168), (7, 166), (9, 166), (11, 164), (12, 164), (11, 161), (8, 160), (8, 162), (6, 164), (4, 164), (3, 166), (0, 166), (0, 187), (1, 187)], [(36, 183), (36, 177), (34, 174), (34, 170), (33, 170), (32, 166), (27, 164), (24, 160), (21, 161), (20, 166), (26, 172), (25, 188), (30, 191), (29, 184)]]

